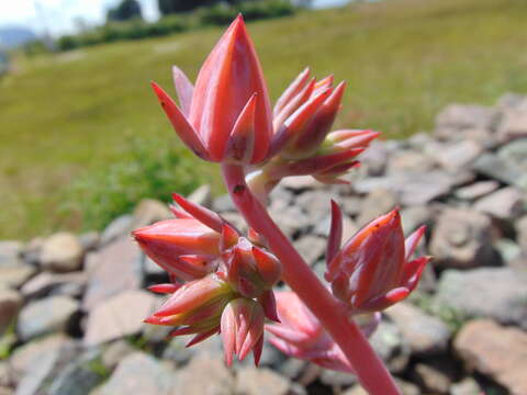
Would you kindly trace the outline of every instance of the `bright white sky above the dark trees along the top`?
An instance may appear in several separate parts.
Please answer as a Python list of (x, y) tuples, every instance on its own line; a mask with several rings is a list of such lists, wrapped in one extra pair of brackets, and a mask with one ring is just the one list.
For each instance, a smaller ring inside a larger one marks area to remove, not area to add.
[[(155, 21), (159, 16), (157, 0), (138, 0), (143, 16)], [(347, 0), (314, 0), (316, 8), (340, 5)], [(72, 33), (85, 24), (104, 22), (106, 10), (119, 0), (0, 0), (0, 26), (27, 26), (37, 34), (46, 30), (54, 36)]]

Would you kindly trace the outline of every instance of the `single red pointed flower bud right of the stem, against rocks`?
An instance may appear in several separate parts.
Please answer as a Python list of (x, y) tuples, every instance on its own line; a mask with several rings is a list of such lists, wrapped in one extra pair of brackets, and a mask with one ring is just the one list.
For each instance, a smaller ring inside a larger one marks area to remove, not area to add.
[(341, 213), (334, 202), (332, 214), (325, 279), (334, 295), (354, 313), (382, 311), (405, 298), (430, 259), (411, 260), (425, 227), (405, 240), (401, 215), (393, 210), (365, 226), (338, 250)]

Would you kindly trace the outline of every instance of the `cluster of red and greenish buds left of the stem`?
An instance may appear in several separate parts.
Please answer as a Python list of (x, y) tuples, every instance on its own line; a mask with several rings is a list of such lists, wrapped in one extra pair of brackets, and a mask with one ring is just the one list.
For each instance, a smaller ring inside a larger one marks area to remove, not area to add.
[[(261, 354), (266, 317), (278, 320), (272, 286), (281, 264), (214, 212), (180, 195), (167, 219), (133, 233), (145, 253), (164, 268), (171, 283), (150, 286), (169, 294), (145, 323), (177, 327), (171, 335), (193, 335), (189, 346), (222, 334), (225, 361)], [(259, 239), (254, 232), (249, 235)]]

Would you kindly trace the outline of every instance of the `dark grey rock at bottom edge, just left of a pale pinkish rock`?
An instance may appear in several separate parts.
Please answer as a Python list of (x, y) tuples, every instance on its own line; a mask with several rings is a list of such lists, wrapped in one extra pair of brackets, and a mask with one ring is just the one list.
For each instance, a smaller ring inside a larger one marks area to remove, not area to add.
[(98, 363), (100, 354), (88, 352), (78, 360), (69, 363), (57, 376), (53, 379), (49, 385), (49, 395), (85, 395), (100, 384), (103, 377), (100, 375), (93, 364)]

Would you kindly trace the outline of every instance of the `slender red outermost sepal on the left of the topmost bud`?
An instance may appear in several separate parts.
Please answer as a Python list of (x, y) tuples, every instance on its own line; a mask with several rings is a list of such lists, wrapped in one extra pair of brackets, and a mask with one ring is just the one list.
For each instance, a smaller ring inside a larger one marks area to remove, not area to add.
[(170, 98), (156, 82), (152, 82), (152, 87), (154, 88), (154, 91), (159, 99), (159, 103), (172, 123), (179, 138), (181, 138), (181, 140), (200, 158), (209, 160), (209, 154), (200, 135), (194, 131), (189, 121), (187, 121), (172, 98)]

